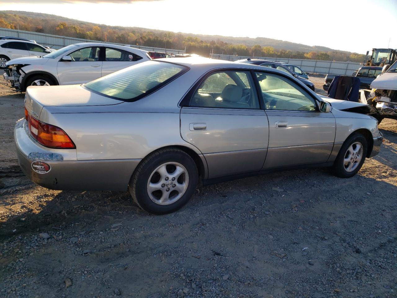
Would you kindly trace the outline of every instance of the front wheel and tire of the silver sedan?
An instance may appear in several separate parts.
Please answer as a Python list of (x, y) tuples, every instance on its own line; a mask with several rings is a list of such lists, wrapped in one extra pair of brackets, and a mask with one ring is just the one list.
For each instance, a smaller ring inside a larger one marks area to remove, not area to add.
[(367, 140), (362, 134), (354, 133), (350, 135), (343, 143), (333, 163), (335, 176), (350, 178), (357, 174), (365, 161), (367, 146)]

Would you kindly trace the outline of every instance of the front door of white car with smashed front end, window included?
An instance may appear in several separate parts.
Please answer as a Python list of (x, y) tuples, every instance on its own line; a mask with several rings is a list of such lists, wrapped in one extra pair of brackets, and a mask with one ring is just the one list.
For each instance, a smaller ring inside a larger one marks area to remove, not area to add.
[(99, 46), (90, 46), (67, 54), (72, 61), (61, 59), (57, 65), (60, 85), (83, 84), (99, 79), (102, 74), (99, 52)]

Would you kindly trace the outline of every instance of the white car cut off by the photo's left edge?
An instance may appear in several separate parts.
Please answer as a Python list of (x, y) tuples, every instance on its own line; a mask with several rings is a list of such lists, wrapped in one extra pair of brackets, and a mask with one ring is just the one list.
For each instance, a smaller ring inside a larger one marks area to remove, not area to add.
[(31, 41), (0, 40), (0, 68), (7, 68), (7, 62), (15, 58), (40, 56), (50, 52), (51, 50)]

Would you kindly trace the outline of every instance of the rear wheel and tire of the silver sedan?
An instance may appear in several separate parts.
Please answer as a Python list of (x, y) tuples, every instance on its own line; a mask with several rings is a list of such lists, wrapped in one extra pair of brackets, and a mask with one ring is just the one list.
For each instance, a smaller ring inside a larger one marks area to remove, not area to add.
[(139, 164), (129, 183), (135, 203), (152, 214), (167, 214), (183, 207), (198, 182), (195, 161), (177, 148), (155, 151)]

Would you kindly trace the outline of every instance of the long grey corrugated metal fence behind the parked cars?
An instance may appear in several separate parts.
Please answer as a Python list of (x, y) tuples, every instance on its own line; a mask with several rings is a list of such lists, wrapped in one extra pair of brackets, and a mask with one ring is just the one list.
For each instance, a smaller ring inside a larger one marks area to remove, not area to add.
[[(74, 37), (65, 37), (59, 35), (51, 35), (44, 33), (37, 33), (31, 31), (21, 31), (0, 28), (0, 36), (13, 36), (22, 37), (29, 40), (35, 40), (40, 45), (50, 46), (52, 48), (58, 49), (67, 45), (72, 45), (74, 43), (86, 43), (86, 42), (102, 42), (102, 41), (92, 41), (89, 39), (80, 39)], [(112, 43), (110, 43), (112, 44)], [(115, 45), (125, 45), (120, 43), (113, 43)], [(139, 45), (128, 45), (134, 48), (140, 48), (146, 51), (155, 52), (168, 52), (173, 54), (183, 54), (183, 50), (175, 49), (165, 49), (165, 48), (154, 48), (150, 46), (139, 46)], [(232, 55), (221, 55), (212, 54), (213, 59), (236, 61), (239, 59), (252, 58), (248, 56), (232, 56)], [(332, 62), (332, 61), (322, 61), (322, 60), (305, 60), (305, 59), (287, 59), (287, 58), (268, 58), (268, 57), (254, 57), (259, 59), (271, 60), (271, 61), (283, 61), (296, 66), (299, 66), (304, 72), (310, 74), (339, 74), (339, 75), (351, 75), (352, 72), (361, 67), (359, 63), (355, 62)]]

